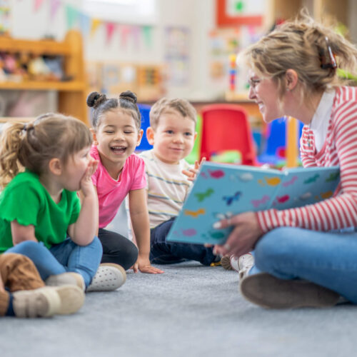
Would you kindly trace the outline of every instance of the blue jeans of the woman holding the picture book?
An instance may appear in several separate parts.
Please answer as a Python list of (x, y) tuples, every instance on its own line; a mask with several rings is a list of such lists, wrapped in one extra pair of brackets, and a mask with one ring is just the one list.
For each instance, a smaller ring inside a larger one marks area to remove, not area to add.
[(305, 279), (357, 303), (357, 233), (283, 227), (256, 243), (255, 266), (281, 279)]

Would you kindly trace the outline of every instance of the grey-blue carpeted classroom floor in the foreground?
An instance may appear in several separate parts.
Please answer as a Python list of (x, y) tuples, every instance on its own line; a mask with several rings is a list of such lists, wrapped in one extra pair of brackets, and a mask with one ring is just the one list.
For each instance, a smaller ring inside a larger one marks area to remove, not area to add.
[(84, 307), (73, 316), (1, 318), (0, 356), (338, 357), (356, 353), (355, 306), (269, 311), (240, 296), (234, 271), (196, 262), (164, 266), (164, 270), (156, 276), (129, 272), (118, 291), (87, 293)]

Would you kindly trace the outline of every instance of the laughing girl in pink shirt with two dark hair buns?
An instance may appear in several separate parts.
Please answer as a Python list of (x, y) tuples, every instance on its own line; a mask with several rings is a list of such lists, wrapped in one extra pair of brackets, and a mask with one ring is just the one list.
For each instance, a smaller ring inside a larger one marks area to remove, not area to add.
[[(143, 131), (136, 95), (121, 93), (119, 99), (107, 99), (92, 92), (87, 105), (94, 108), (91, 156), (99, 161), (92, 181), (99, 199), (98, 237), (103, 246), (102, 263), (116, 263), (134, 272), (163, 273), (151, 266), (149, 213), (146, 206), (146, 176), (143, 159), (134, 154)], [(129, 193), (129, 211), (138, 248), (129, 239), (104, 229)], [(138, 254), (139, 253), (139, 254)]]

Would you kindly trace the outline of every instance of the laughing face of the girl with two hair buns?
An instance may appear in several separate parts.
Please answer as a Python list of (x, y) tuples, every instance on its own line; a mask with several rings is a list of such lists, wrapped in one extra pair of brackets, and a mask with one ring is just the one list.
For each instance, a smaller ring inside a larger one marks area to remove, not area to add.
[(93, 134), (102, 164), (120, 171), (140, 144), (143, 131), (136, 129), (130, 111), (119, 108), (106, 111)]

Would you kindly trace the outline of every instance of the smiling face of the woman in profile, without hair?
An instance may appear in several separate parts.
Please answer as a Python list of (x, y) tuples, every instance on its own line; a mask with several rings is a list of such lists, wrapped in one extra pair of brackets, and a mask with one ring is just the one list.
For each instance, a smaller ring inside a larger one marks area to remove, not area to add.
[(256, 101), (263, 121), (270, 123), (283, 116), (281, 99), (278, 97), (278, 84), (271, 78), (261, 78), (252, 70), (248, 72), (251, 85), (248, 98)]

